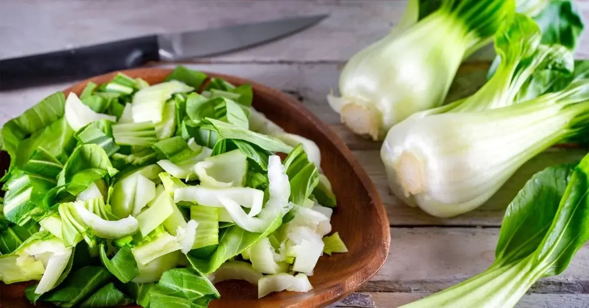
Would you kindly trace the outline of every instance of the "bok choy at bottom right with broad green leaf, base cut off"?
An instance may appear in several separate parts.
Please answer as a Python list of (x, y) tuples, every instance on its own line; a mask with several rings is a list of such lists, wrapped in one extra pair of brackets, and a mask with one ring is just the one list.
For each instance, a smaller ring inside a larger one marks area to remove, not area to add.
[(577, 167), (535, 174), (507, 207), (491, 267), (402, 307), (514, 307), (536, 280), (562, 273), (589, 239), (588, 193), (589, 155)]

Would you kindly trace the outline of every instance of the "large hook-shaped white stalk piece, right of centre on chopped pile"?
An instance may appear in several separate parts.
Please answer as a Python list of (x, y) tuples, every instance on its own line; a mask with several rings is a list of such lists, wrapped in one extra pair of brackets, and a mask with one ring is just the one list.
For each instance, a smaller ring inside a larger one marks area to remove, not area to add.
[(218, 196), (220, 203), (233, 217), (235, 223), (244, 230), (262, 233), (277, 217), (284, 216), (292, 208), (292, 203), (289, 202), (289, 177), (286, 175), (284, 165), (282, 165), (280, 157), (277, 155), (272, 155), (269, 158), (268, 181), (270, 197), (258, 217), (248, 216), (234, 200)]

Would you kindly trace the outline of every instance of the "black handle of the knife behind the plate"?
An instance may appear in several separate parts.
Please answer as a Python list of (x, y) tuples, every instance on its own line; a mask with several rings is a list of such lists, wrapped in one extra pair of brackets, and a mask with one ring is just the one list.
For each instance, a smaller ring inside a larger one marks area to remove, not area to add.
[(67, 82), (158, 61), (155, 35), (48, 54), (0, 59), (0, 91)]

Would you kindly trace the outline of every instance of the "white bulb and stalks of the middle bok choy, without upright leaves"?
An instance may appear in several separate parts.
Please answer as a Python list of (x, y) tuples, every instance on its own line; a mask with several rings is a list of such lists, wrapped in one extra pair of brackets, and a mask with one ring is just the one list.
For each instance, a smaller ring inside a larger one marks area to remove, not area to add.
[(527, 102), (479, 112), (449, 112), (393, 127), (382, 145), (389, 186), (409, 205), (438, 217), (471, 211), (526, 161), (589, 117), (589, 80)]

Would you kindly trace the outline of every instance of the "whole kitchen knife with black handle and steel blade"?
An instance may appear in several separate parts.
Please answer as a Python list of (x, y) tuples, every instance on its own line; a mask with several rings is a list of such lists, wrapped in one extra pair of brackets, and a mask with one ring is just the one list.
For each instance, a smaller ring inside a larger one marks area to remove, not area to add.
[(178, 61), (260, 45), (308, 28), (327, 15), (242, 24), (201, 31), (154, 34), (47, 54), (0, 59), (0, 91), (66, 82), (151, 61)]

